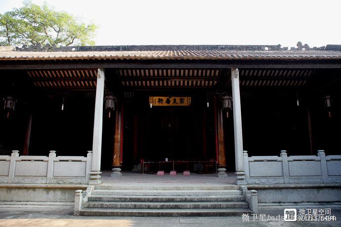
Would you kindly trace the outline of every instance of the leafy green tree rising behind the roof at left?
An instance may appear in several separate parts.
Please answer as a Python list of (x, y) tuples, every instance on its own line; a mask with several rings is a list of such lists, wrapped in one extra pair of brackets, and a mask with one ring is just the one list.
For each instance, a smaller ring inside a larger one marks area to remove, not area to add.
[(97, 26), (85, 24), (64, 11), (56, 11), (46, 3), (39, 6), (30, 1), (21, 8), (0, 14), (0, 45), (56, 46), (94, 45)]

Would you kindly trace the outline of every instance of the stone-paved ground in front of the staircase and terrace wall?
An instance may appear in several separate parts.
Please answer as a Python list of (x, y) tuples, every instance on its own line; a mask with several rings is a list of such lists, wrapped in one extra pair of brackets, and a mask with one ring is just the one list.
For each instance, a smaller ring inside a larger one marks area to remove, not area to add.
[[(80, 227), (243, 227), (243, 226), (341, 226), (341, 209), (332, 209), (332, 215), (337, 216), (336, 222), (242, 222), (242, 217), (77, 217), (73, 210), (59, 209), (41, 210), (1, 209), (0, 227), (41, 227), (41, 226), (80, 226)], [(283, 209), (260, 210), (260, 214), (283, 214)]]

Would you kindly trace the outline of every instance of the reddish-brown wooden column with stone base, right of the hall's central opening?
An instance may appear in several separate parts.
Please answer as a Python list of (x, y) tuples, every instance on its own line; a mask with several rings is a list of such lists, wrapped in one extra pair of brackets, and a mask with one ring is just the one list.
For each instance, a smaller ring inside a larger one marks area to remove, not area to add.
[(220, 105), (214, 96), (214, 118), (215, 118), (215, 144), (216, 144), (216, 156), (218, 166), (218, 177), (226, 177), (226, 156), (225, 156), (225, 139), (224, 139), (224, 127), (223, 127), (223, 114)]

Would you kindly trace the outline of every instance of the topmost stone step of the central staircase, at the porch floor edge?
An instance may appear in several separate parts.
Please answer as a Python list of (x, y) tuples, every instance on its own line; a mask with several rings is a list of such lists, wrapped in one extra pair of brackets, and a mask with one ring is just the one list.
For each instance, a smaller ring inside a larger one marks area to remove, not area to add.
[(167, 185), (167, 186), (153, 186), (153, 185), (98, 185), (95, 189), (100, 190), (239, 190), (237, 185)]

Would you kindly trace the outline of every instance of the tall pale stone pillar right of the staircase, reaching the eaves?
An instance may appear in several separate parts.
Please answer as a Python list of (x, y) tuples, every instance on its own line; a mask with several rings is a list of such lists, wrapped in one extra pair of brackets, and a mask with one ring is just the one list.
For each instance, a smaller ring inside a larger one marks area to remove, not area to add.
[(240, 107), (239, 71), (231, 69), (232, 99), (233, 99), (233, 125), (234, 147), (236, 160), (237, 185), (246, 185), (243, 163), (243, 134), (242, 113)]

